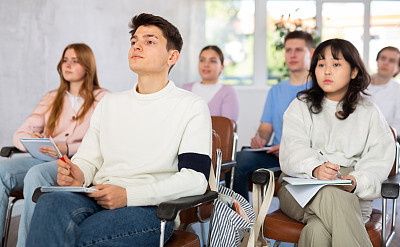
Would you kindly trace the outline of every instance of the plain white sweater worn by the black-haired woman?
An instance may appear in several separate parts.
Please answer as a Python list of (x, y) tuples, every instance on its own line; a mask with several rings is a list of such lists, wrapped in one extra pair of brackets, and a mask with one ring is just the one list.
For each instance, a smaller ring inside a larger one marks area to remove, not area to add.
[(318, 114), (295, 99), (283, 118), (279, 162), (284, 173), (311, 178), (312, 171), (327, 160), (344, 167), (354, 167), (354, 193), (360, 198), (364, 221), (372, 210), (372, 201), (380, 197), (381, 183), (393, 166), (395, 142), (389, 125), (378, 108), (361, 99), (356, 110), (345, 120), (335, 112), (337, 102), (326, 98)]

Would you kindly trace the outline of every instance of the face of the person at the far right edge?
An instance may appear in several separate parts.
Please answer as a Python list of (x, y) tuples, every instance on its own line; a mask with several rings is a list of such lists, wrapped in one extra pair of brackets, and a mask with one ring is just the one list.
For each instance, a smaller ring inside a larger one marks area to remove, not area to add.
[(392, 50), (383, 50), (378, 57), (378, 74), (392, 77), (399, 71), (399, 53)]

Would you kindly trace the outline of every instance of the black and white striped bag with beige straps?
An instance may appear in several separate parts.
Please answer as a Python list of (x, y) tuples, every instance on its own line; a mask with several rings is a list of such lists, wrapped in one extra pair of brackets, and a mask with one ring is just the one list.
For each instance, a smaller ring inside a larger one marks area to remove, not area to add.
[[(274, 174), (271, 171), (269, 173), (271, 179), (264, 200), (261, 200), (261, 186), (253, 185), (253, 207), (233, 190), (218, 186), (219, 196), (214, 202), (211, 219), (210, 247), (269, 246), (269, 242), (263, 238), (262, 230), (275, 187)], [(217, 190), (216, 184), (211, 180), (210, 188)], [(234, 201), (240, 204), (243, 216), (236, 212), (237, 207), (232, 206)]]

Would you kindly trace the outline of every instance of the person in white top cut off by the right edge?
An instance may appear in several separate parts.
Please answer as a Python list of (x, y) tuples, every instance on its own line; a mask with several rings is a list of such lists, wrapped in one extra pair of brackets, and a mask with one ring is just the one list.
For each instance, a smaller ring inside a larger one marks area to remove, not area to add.
[(400, 71), (400, 51), (387, 46), (378, 52), (376, 57), (378, 73), (372, 75), (371, 84), (366, 91), (369, 99), (378, 105), (386, 121), (400, 131), (400, 84), (395, 77)]

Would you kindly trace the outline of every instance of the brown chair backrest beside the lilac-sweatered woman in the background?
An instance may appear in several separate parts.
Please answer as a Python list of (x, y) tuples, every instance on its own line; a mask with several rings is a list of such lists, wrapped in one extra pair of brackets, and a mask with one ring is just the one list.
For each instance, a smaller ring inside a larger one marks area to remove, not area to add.
[(222, 162), (233, 161), (236, 157), (236, 122), (220, 116), (212, 116), (212, 128), (221, 139)]

